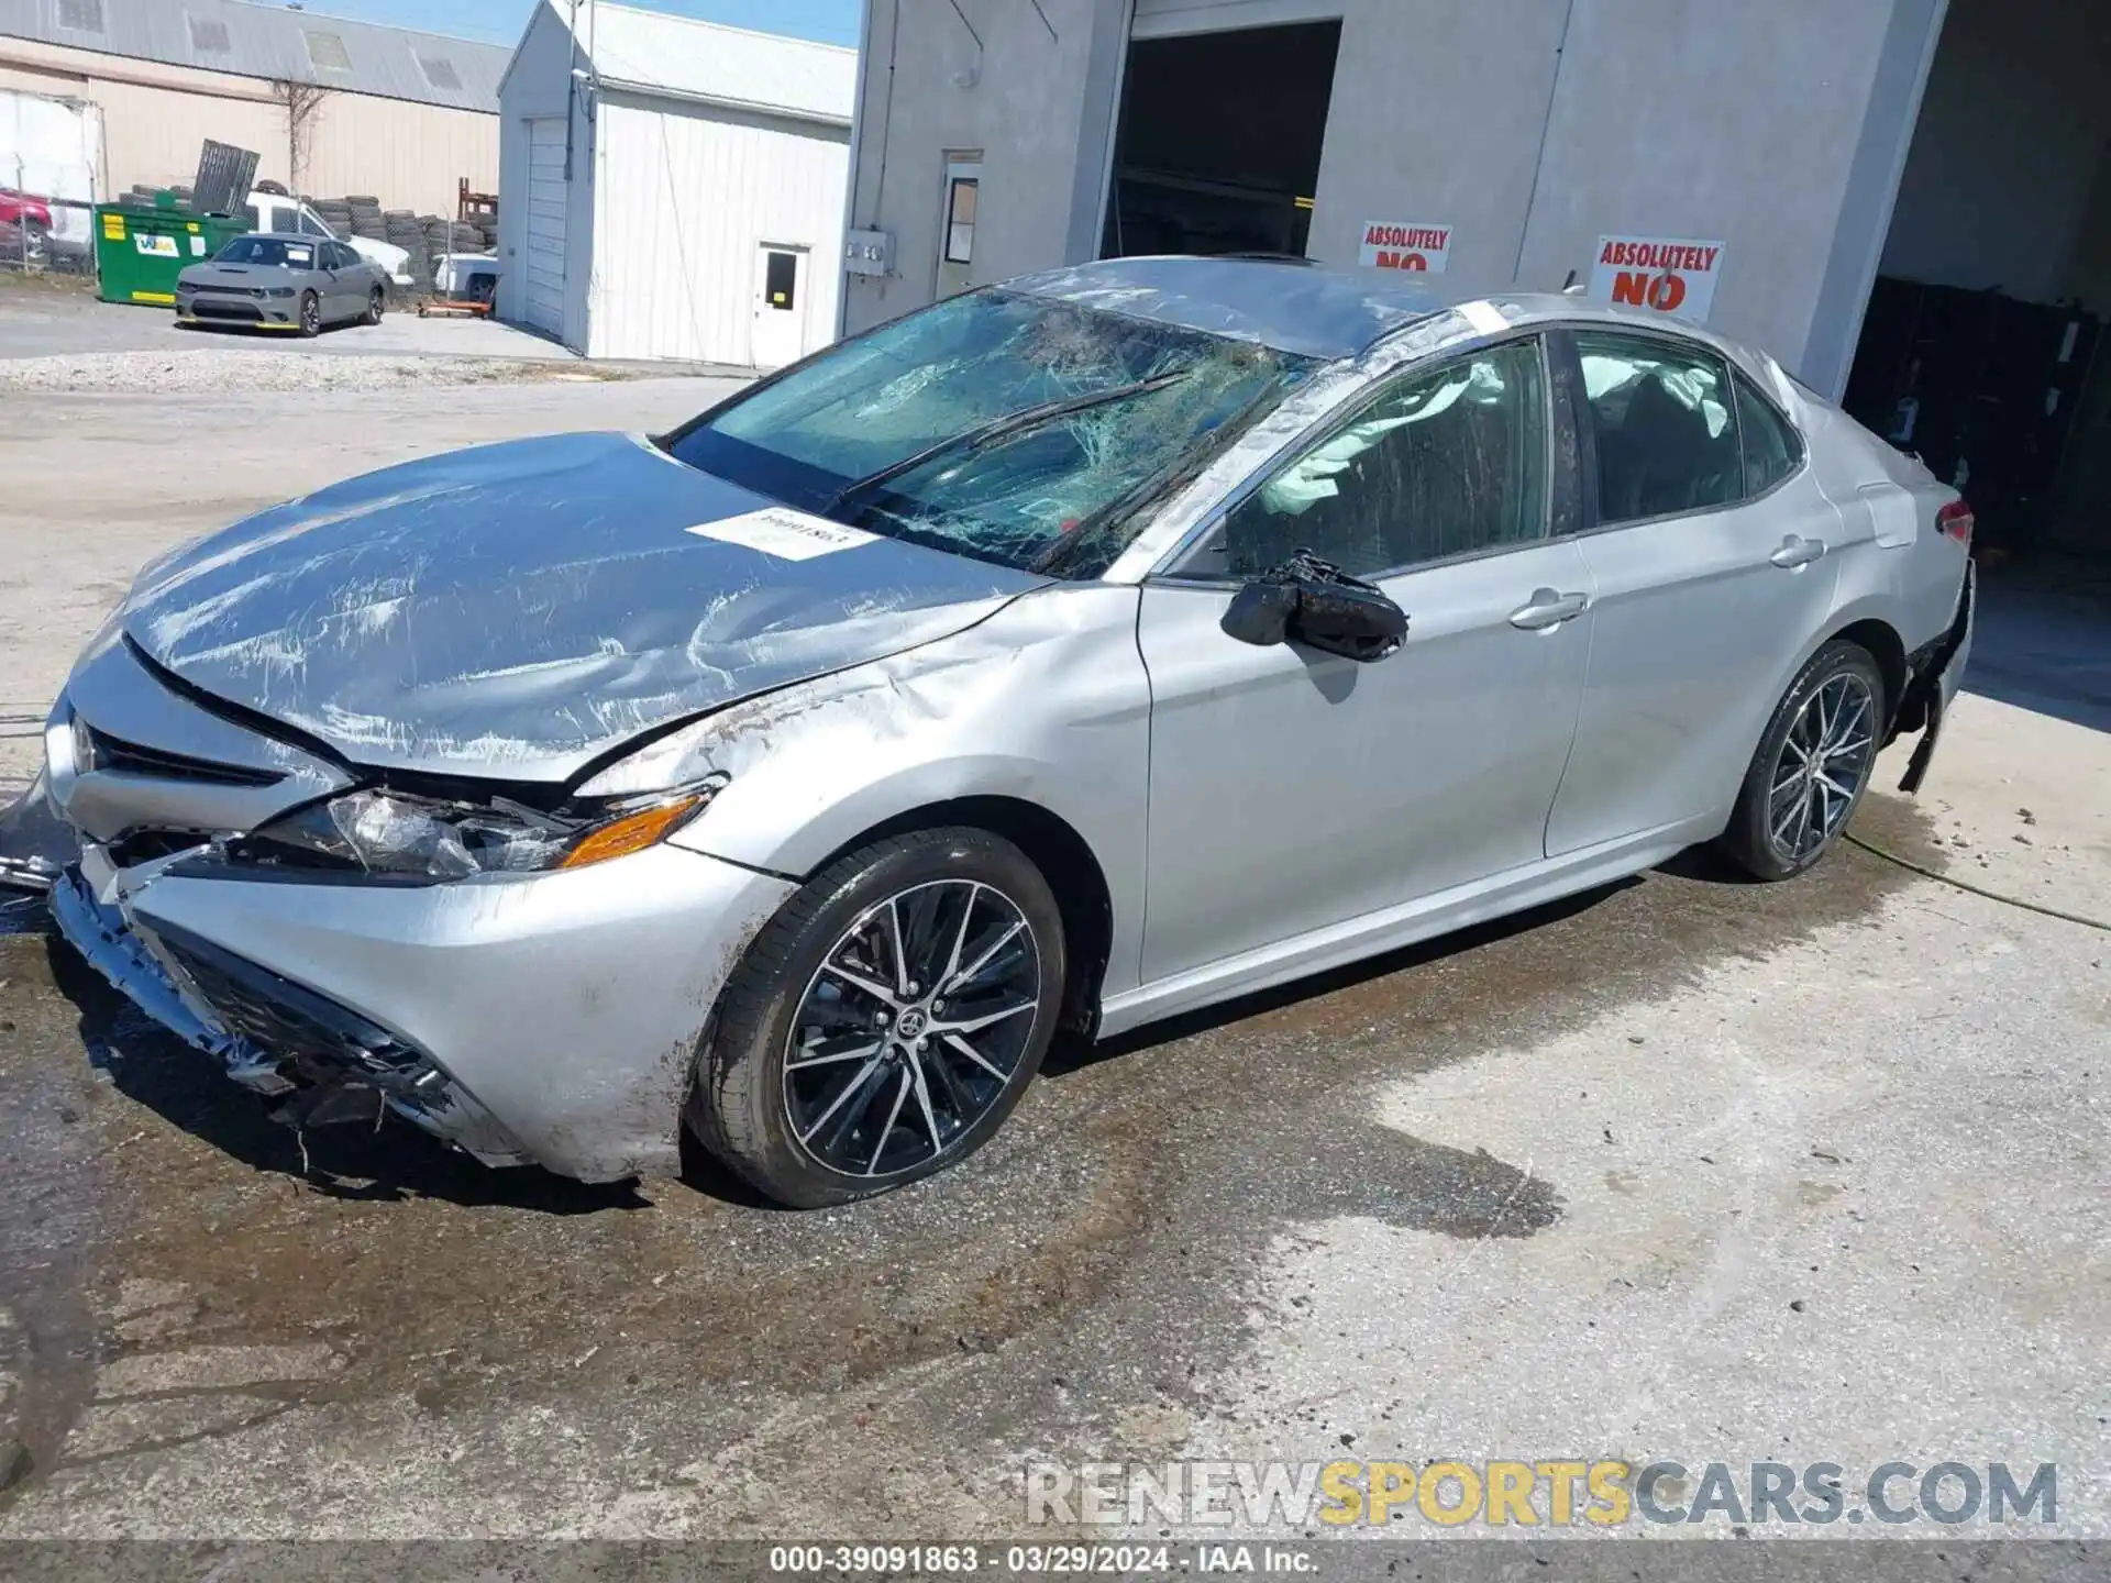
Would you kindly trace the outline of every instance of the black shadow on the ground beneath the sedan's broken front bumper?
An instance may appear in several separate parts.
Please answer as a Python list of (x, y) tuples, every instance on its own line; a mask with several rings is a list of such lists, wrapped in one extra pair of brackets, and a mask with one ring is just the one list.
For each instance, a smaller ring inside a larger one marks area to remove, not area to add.
[(160, 1030), (110, 988), (59, 935), (46, 941), (53, 984), (78, 1013), (89, 1064), (118, 1093), (253, 1171), (287, 1176), (331, 1199), (441, 1199), (471, 1209), (549, 1216), (648, 1209), (640, 1182), (574, 1182), (536, 1165), (494, 1169), (448, 1148), (393, 1112), (374, 1123), (296, 1131), (270, 1102), (236, 1087), (209, 1055)]

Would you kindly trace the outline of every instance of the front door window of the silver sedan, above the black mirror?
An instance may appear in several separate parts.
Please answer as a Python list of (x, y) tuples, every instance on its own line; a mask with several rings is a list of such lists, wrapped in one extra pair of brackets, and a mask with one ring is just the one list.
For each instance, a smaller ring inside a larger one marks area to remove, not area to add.
[(1537, 340), (1406, 376), (1233, 509), (1222, 570), (1311, 551), (1372, 576), (1545, 538), (1545, 409)]

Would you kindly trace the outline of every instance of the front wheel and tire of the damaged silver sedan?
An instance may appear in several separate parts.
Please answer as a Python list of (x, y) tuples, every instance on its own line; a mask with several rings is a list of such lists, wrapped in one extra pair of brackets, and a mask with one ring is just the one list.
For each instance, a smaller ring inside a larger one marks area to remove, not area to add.
[(1018, 846), (965, 827), (878, 840), (809, 880), (747, 948), (703, 1034), (688, 1125), (796, 1209), (918, 1182), (1011, 1114), (1056, 1032), (1064, 971), (1062, 912)]

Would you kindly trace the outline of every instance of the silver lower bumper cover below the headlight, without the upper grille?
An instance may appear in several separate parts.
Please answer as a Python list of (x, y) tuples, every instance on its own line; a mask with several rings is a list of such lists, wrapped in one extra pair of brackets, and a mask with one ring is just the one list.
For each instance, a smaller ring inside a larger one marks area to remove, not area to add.
[(486, 1165), (608, 1182), (673, 1169), (697, 1041), (794, 893), (657, 846), (437, 886), (129, 870), (89, 842), (65, 939), (300, 1127), (395, 1112)]

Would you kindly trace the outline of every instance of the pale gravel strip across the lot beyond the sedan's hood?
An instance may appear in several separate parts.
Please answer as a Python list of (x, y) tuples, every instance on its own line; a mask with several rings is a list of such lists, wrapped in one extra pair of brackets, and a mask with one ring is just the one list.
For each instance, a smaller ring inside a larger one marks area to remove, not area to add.
[(509, 357), (315, 357), (306, 350), (201, 346), (154, 352), (53, 352), (0, 359), (0, 390), (65, 395), (190, 395), (388, 390), (403, 384), (625, 380), (591, 363)]

